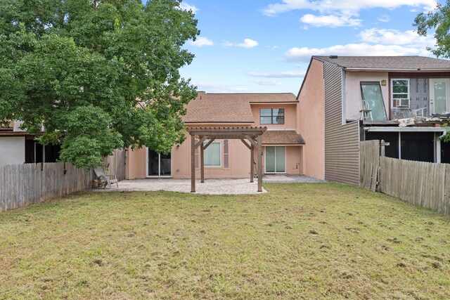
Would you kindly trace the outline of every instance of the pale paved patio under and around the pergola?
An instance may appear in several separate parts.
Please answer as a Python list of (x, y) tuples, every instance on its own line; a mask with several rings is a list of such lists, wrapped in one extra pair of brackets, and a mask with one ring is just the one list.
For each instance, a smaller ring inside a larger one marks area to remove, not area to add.
[[(308, 176), (288, 176), (283, 174), (265, 175), (262, 180), (264, 183), (319, 183), (325, 182), (317, 178)], [(200, 183), (200, 180), (195, 182), (197, 191), (196, 194), (210, 194), (210, 195), (240, 195), (240, 194), (258, 194), (257, 181), (250, 183), (248, 178), (243, 179), (206, 179), (205, 183)], [(146, 178), (124, 180), (112, 188), (93, 189), (96, 192), (139, 192), (139, 191), (155, 191), (167, 190), (169, 192), (190, 193), (191, 179), (176, 179), (176, 178)], [(262, 193), (267, 193), (262, 188)]]

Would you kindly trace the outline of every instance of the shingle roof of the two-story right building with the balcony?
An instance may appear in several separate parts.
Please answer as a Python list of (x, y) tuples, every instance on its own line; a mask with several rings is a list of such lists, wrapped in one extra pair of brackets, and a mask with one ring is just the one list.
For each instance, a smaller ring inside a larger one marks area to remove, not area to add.
[(367, 70), (450, 70), (450, 60), (425, 56), (313, 56), (347, 69)]

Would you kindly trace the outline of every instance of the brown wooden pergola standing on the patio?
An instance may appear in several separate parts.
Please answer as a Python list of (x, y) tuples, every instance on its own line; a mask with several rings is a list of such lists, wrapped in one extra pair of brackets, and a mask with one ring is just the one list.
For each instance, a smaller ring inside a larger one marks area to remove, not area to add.
[[(200, 182), (204, 183), (204, 152), (214, 140), (240, 140), (250, 150), (250, 182), (255, 177), (253, 163), (254, 149), (257, 149), (258, 192), (262, 192), (262, 133), (266, 130), (267, 127), (188, 128), (187, 131), (191, 134), (191, 193), (195, 193), (195, 149), (200, 147)], [(198, 137), (197, 143), (195, 137)]]

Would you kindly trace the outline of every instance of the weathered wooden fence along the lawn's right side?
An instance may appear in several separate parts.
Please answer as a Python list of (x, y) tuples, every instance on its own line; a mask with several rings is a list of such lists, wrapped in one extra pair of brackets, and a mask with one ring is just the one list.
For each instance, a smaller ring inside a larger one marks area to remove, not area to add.
[(379, 141), (359, 150), (359, 185), (450, 215), (450, 164), (380, 157)]

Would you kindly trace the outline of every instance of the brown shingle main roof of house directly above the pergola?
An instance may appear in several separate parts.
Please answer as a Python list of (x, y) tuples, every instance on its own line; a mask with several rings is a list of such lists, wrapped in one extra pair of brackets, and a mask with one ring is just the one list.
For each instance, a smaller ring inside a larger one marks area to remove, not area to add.
[(185, 123), (253, 123), (250, 103), (281, 103), (297, 100), (293, 93), (205, 93), (186, 105)]

